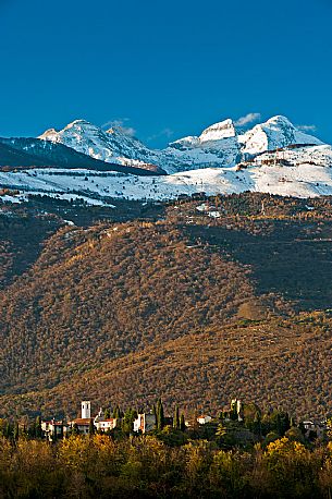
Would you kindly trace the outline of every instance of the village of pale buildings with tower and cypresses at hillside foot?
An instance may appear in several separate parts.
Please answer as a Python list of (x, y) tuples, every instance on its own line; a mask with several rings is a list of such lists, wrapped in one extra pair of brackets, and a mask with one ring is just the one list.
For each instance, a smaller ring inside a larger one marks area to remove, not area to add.
[[(156, 409), (157, 407), (157, 409)], [(254, 407), (254, 414), (253, 414)], [(93, 414), (91, 402), (84, 400), (81, 403), (81, 417), (76, 417), (70, 421), (64, 419), (40, 419), (40, 428), (42, 438), (48, 441), (57, 441), (59, 439), (67, 438), (71, 435), (93, 435), (107, 434), (112, 435), (116, 429), (123, 430), (124, 422), (126, 422), (126, 430), (132, 435), (144, 435), (156, 430), (162, 430), (165, 427), (174, 428), (176, 430), (189, 431), (204, 427), (209, 427), (212, 431), (221, 433), (220, 428), (224, 425), (224, 434), (228, 431), (228, 427), (234, 431), (234, 424), (238, 425), (238, 428), (246, 427), (250, 429), (251, 434), (262, 437), (263, 427), (267, 426), (269, 429), (274, 429), (276, 436), (281, 436), (291, 431), (293, 428), (297, 428), (302, 431), (304, 438), (307, 439), (322, 439), (332, 429), (332, 421), (315, 421), (308, 419), (295, 424), (294, 419), (288, 416), (285, 412), (274, 411), (271, 415), (271, 419), (275, 419), (275, 428), (271, 422), (267, 424), (267, 416), (261, 415), (258, 407), (255, 404), (243, 404), (238, 399), (232, 399), (230, 407), (225, 407), (218, 417), (213, 417), (210, 414), (198, 414), (193, 418), (185, 418), (184, 414), (180, 415), (179, 407), (175, 407), (174, 416), (164, 416), (162, 402), (159, 399), (157, 405), (149, 412), (139, 412), (130, 410), (126, 413), (122, 413), (118, 407), (113, 411), (112, 417), (110, 410), (103, 411), (99, 409), (97, 414)], [(247, 424), (246, 424), (247, 423)], [(244, 437), (247, 439), (248, 435)]]

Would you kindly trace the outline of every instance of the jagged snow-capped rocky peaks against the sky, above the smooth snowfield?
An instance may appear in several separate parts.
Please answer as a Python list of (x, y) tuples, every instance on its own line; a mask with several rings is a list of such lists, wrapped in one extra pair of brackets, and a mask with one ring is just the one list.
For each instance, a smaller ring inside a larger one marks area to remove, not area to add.
[(280, 115), (246, 133), (237, 131), (234, 122), (228, 119), (207, 127), (199, 136), (180, 138), (161, 150), (148, 148), (121, 126), (103, 131), (85, 120), (76, 120), (59, 132), (54, 129), (48, 130), (39, 138), (63, 144), (107, 162), (131, 166), (150, 163), (169, 173), (234, 167), (248, 155), (292, 144), (322, 144)]

